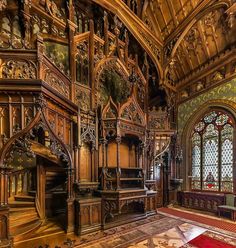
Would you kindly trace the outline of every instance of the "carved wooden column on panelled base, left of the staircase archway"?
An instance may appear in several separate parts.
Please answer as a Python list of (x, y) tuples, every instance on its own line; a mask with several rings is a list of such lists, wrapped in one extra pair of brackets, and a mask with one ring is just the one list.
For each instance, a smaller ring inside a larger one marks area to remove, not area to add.
[(8, 207), (9, 169), (0, 167), (0, 247), (11, 247)]

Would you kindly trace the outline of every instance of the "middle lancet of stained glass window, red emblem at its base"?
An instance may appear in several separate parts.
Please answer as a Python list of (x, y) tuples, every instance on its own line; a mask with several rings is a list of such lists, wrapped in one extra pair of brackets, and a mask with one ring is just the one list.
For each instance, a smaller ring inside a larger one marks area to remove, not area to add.
[(203, 134), (203, 189), (219, 190), (218, 131), (209, 124)]

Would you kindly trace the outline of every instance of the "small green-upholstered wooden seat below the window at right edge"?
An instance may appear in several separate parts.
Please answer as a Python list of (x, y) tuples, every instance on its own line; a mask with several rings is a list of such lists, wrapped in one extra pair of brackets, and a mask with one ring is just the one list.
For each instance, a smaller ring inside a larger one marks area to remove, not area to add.
[(219, 205), (217, 207), (218, 216), (221, 216), (222, 212), (230, 213), (231, 220), (236, 221), (236, 206), (235, 206), (235, 195), (225, 195), (225, 205)]

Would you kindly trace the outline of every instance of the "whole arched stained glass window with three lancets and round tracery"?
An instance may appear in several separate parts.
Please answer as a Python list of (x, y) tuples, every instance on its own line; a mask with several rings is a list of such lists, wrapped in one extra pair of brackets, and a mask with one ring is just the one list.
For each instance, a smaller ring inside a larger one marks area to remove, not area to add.
[(233, 192), (232, 118), (212, 111), (195, 125), (192, 143), (193, 190)]

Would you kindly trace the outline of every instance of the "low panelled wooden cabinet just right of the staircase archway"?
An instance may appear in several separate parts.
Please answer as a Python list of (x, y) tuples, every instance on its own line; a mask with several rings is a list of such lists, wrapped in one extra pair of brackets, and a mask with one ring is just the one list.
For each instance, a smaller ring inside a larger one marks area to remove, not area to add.
[(101, 229), (101, 198), (78, 198), (75, 201), (77, 235)]

